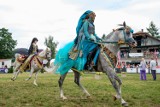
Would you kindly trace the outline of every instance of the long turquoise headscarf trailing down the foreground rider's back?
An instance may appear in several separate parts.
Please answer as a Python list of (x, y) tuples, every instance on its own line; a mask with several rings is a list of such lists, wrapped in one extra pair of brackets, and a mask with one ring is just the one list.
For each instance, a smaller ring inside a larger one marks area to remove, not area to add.
[[(92, 12), (93, 12), (93, 11), (91, 11), (91, 10), (87, 10), (87, 11), (84, 12), (84, 13), (81, 15), (81, 17), (79, 18), (78, 25), (77, 25), (77, 27), (76, 27), (77, 37), (78, 37), (79, 31), (80, 31), (80, 29), (81, 29), (81, 27), (82, 27), (82, 25), (83, 25), (84, 19), (86, 19), (86, 17), (88, 16), (88, 14), (90, 14), (90, 13), (92, 13)], [(76, 37), (76, 39), (74, 40), (75, 43), (77, 43), (77, 37)]]

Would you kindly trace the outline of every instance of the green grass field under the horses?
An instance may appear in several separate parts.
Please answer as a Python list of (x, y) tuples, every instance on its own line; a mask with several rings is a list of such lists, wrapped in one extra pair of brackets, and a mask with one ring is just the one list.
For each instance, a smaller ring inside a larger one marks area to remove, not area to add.
[[(64, 101), (59, 97), (59, 75), (40, 73), (38, 87), (33, 85), (33, 78), (25, 81), (28, 75), (22, 73), (11, 81), (12, 74), (0, 74), (0, 107), (121, 107), (120, 101), (113, 101), (115, 90), (105, 74), (98, 80), (95, 74), (82, 75), (81, 83), (91, 94), (87, 99), (74, 83), (73, 73), (69, 73), (63, 85), (68, 98)], [(140, 81), (139, 74), (120, 78), (122, 96), (129, 107), (160, 107), (160, 74), (157, 81), (151, 74), (147, 74), (147, 81)]]

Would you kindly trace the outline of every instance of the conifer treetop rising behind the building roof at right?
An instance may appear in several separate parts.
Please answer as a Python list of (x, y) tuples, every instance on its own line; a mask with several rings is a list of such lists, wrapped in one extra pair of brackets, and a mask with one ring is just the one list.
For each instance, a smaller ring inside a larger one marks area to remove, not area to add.
[(151, 21), (149, 28), (146, 28), (148, 33), (151, 34), (153, 37), (156, 37), (159, 35), (158, 33), (158, 28), (156, 27), (156, 25), (153, 23), (153, 21)]

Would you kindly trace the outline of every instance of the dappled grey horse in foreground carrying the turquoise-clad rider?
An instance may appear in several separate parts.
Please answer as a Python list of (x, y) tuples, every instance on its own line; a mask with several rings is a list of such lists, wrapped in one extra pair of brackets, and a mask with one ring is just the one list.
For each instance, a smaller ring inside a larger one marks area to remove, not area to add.
[[(121, 28), (113, 30), (103, 40), (103, 42), (98, 43), (101, 45), (101, 51), (98, 56), (97, 64), (94, 68), (96, 71), (103, 72), (108, 76), (113, 88), (116, 91), (116, 95), (113, 96), (114, 99), (120, 99), (122, 106), (128, 106), (128, 103), (122, 98), (122, 81), (117, 76), (114, 68), (117, 64), (117, 53), (120, 50), (120, 45), (128, 44), (129, 46), (134, 47), (136, 46), (136, 42), (132, 37), (133, 30), (129, 26), (127, 26), (125, 22), (121, 26)], [(78, 71), (74, 68), (72, 68), (72, 70), (74, 72), (74, 82), (80, 87), (80, 89), (86, 94), (87, 97), (90, 97), (89, 92), (80, 83), (81, 71)], [(62, 99), (67, 99), (67, 97), (64, 96), (62, 88), (67, 73), (60, 75), (60, 78), (58, 80), (60, 88), (60, 97)]]

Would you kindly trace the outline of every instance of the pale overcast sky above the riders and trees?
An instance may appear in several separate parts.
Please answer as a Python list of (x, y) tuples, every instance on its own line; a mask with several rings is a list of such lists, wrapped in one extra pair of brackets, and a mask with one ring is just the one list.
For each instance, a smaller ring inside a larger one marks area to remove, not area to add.
[(135, 32), (146, 31), (151, 21), (160, 28), (160, 0), (0, 0), (0, 28), (9, 29), (16, 48), (28, 48), (37, 37), (39, 48), (44, 49), (49, 35), (60, 48), (74, 40), (78, 19), (86, 10), (96, 13), (99, 37), (123, 21)]

